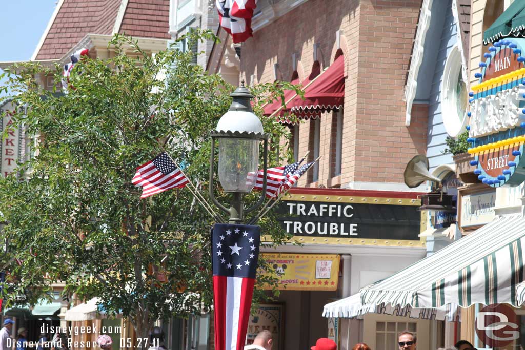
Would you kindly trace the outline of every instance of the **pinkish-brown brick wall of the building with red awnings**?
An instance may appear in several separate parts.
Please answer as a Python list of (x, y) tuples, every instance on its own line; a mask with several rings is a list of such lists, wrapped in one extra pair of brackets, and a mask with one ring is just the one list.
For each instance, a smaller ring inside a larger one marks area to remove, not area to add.
[[(334, 60), (336, 33), (342, 30), (345, 100), (341, 175), (333, 176), (333, 113), (321, 115), (319, 181), (299, 186), (345, 187), (350, 182), (403, 183), (406, 163), (425, 153), (428, 109), (417, 105), (405, 126), (405, 76), (412, 53), (420, 0), (310, 0), (243, 43), (241, 79), (272, 81), (278, 62), (283, 76), (292, 73), (299, 54), (300, 77), (308, 76), (313, 47), (320, 45), (322, 68)], [(299, 156), (311, 147), (310, 123), (300, 125)], [(310, 150), (313, 156), (313, 149)]]

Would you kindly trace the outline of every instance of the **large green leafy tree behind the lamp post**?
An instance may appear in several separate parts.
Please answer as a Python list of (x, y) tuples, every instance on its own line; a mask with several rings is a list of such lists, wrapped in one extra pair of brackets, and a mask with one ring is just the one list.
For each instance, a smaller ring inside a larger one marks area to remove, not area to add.
[[(9, 242), (1, 262), (10, 273), (3, 293), (7, 307), (35, 304), (50, 298), (51, 284), (62, 281), (64, 296), (97, 296), (109, 315), (128, 317), (137, 336), (146, 337), (155, 320), (211, 305), (213, 219), (185, 188), (141, 200), (141, 188), (131, 179), (138, 165), (166, 150), (207, 193), (208, 135), (227, 111), (234, 87), (192, 65), (191, 52), (151, 57), (118, 35), (110, 45), (116, 56), (80, 61), (62, 96), (42, 89), (36, 78), (53, 73), (59, 81), (61, 67), (27, 63), (5, 72), (0, 89), (9, 88), (19, 106), (14, 126), (40, 142), (16, 176), (0, 179), (6, 221), (0, 238)], [(124, 54), (126, 47), (133, 57)], [(158, 79), (163, 73), (169, 78)], [(267, 102), (264, 96), (282, 96), (285, 88), (296, 89), (288, 83), (254, 87), (256, 113)], [(290, 136), (276, 120), (262, 122), (271, 144)], [(270, 151), (270, 166), (285, 161), (277, 150)], [(227, 203), (220, 188), (216, 196)], [(258, 196), (246, 196), (247, 205)], [(275, 244), (287, 238), (272, 218), (261, 226)], [(258, 282), (278, 292), (274, 277), (261, 275)], [(262, 295), (256, 290), (256, 298)]]

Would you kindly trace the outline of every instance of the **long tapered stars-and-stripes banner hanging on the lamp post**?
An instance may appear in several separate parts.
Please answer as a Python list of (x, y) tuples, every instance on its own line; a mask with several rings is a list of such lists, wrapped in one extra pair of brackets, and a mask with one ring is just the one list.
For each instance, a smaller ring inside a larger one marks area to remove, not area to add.
[(244, 347), (259, 245), (259, 226), (215, 224), (213, 227), (216, 350), (241, 350)]

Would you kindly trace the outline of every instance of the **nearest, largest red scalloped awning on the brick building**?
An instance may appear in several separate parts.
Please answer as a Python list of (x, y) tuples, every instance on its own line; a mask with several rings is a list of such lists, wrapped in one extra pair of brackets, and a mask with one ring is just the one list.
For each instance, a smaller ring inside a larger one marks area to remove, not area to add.
[(304, 89), (304, 100), (297, 96), (287, 107), (293, 114), (314, 114), (339, 109), (343, 102), (344, 58), (341, 55)]

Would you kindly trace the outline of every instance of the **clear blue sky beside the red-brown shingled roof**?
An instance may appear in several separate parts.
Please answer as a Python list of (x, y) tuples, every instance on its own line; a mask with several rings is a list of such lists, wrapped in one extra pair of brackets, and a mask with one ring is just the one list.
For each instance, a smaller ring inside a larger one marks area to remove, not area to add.
[(0, 61), (25, 61), (33, 56), (56, 3), (57, 0), (0, 0)]

